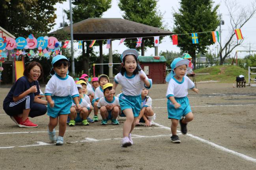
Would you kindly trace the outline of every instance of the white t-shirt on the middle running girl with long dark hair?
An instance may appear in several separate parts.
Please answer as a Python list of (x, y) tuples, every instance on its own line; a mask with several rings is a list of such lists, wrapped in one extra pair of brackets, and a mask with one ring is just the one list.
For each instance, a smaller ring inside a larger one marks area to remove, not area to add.
[[(140, 80), (140, 74), (144, 75), (147, 80), (150, 82), (150, 87), (146, 87), (144, 82)], [(121, 84), (122, 91), (124, 95), (129, 96), (138, 96), (141, 94), (141, 91), (143, 88), (151, 88), (152, 86), (152, 80), (148, 79), (147, 75), (144, 73), (143, 70), (140, 70), (138, 74), (132, 75), (131, 77), (126, 75), (126, 72), (124, 75), (121, 75), (121, 73), (118, 73), (115, 76), (114, 81), (117, 84)]]

